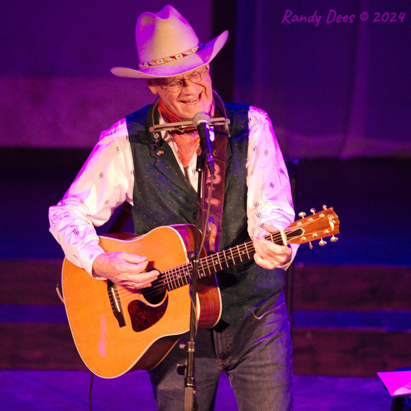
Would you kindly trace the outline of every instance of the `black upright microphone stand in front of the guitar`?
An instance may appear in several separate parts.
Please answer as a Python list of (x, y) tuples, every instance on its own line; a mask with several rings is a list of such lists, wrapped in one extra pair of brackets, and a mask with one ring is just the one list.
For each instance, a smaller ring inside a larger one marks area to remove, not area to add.
[[(199, 173), (199, 182), (197, 189), (197, 205), (196, 205), (196, 230), (194, 237), (194, 252), (188, 254), (188, 258), (192, 261), (192, 277), (190, 283), (190, 298), (191, 298), (191, 314), (190, 314), (190, 334), (189, 341), (180, 344), (181, 349), (187, 352), (187, 362), (185, 365), (178, 365), (178, 373), (185, 376), (184, 380), (184, 411), (197, 411), (197, 400), (194, 395), (196, 390), (196, 380), (194, 378), (194, 354), (196, 351), (195, 338), (197, 334), (197, 313), (196, 313), (196, 293), (198, 279), (198, 263), (200, 258), (199, 245), (201, 244), (201, 215), (202, 207), (202, 188), (205, 169), (205, 158), (203, 154), (197, 157), (196, 171)], [(213, 178), (213, 176), (211, 177)], [(206, 227), (205, 227), (206, 229)]]

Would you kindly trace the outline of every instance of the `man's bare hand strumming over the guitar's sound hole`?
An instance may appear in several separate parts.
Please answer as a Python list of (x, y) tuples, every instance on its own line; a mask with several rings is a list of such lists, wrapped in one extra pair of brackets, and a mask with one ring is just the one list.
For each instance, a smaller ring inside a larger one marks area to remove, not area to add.
[(150, 287), (157, 279), (157, 270), (143, 272), (147, 257), (123, 251), (99, 254), (93, 263), (93, 277), (104, 277), (130, 291)]

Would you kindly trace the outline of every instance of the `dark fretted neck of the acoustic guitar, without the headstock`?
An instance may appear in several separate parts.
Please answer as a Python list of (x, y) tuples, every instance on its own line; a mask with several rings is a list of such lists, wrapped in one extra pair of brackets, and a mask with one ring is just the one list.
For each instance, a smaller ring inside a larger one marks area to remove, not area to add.
[[(275, 244), (284, 245), (284, 240), (288, 244), (287, 240), (291, 237), (300, 235), (300, 233), (301, 230), (294, 230), (289, 233), (276, 231), (275, 233), (268, 234), (264, 238), (268, 241), (274, 242)], [(213, 275), (218, 271), (224, 270), (224, 268), (245, 263), (253, 258), (255, 252), (256, 250), (253, 242), (249, 241), (215, 254), (205, 256), (199, 259), (198, 279)], [(164, 271), (163, 274), (166, 280), (167, 289), (171, 291), (188, 284), (190, 282), (191, 271), (191, 262)]]

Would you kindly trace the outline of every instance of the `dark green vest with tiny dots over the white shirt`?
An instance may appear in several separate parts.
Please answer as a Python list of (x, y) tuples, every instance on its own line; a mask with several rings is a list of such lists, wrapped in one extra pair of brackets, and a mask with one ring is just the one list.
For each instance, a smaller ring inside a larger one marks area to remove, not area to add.
[[(227, 104), (231, 138), (227, 145), (225, 199), (220, 249), (249, 241), (245, 162), (248, 147), (248, 110)], [(126, 117), (134, 170), (133, 220), (136, 234), (157, 226), (194, 224), (196, 192), (185, 178), (167, 143), (150, 149), (152, 105)], [(216, 138), (218, 135), (216, 134)], [(157, 155), (158, 150), (164, 154)], [(266, 270), (254, 260), (217, 274), (222, 295), (222, 320), (238, 325), (263, 300), (283, 285), (281, 269)]]

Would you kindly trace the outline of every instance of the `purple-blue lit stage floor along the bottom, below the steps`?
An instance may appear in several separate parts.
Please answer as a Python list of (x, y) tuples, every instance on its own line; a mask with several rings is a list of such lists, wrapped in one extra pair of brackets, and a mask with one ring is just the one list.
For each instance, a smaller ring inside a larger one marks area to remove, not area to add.
[[(74, 411), (88, 409), (90, 373), (86, 371), (0, 370), (0, 409)], [(95, 377), (94, 411), (154, 411), (145, 372), (117, 379)], [(391, 397), (377, 378), (294, 376), (295, 411), (388, 411)], [(219, 381), (216, 411), (238, 410), (228, 377)], [(249, 410), (252, 411), (252, 410)]]

